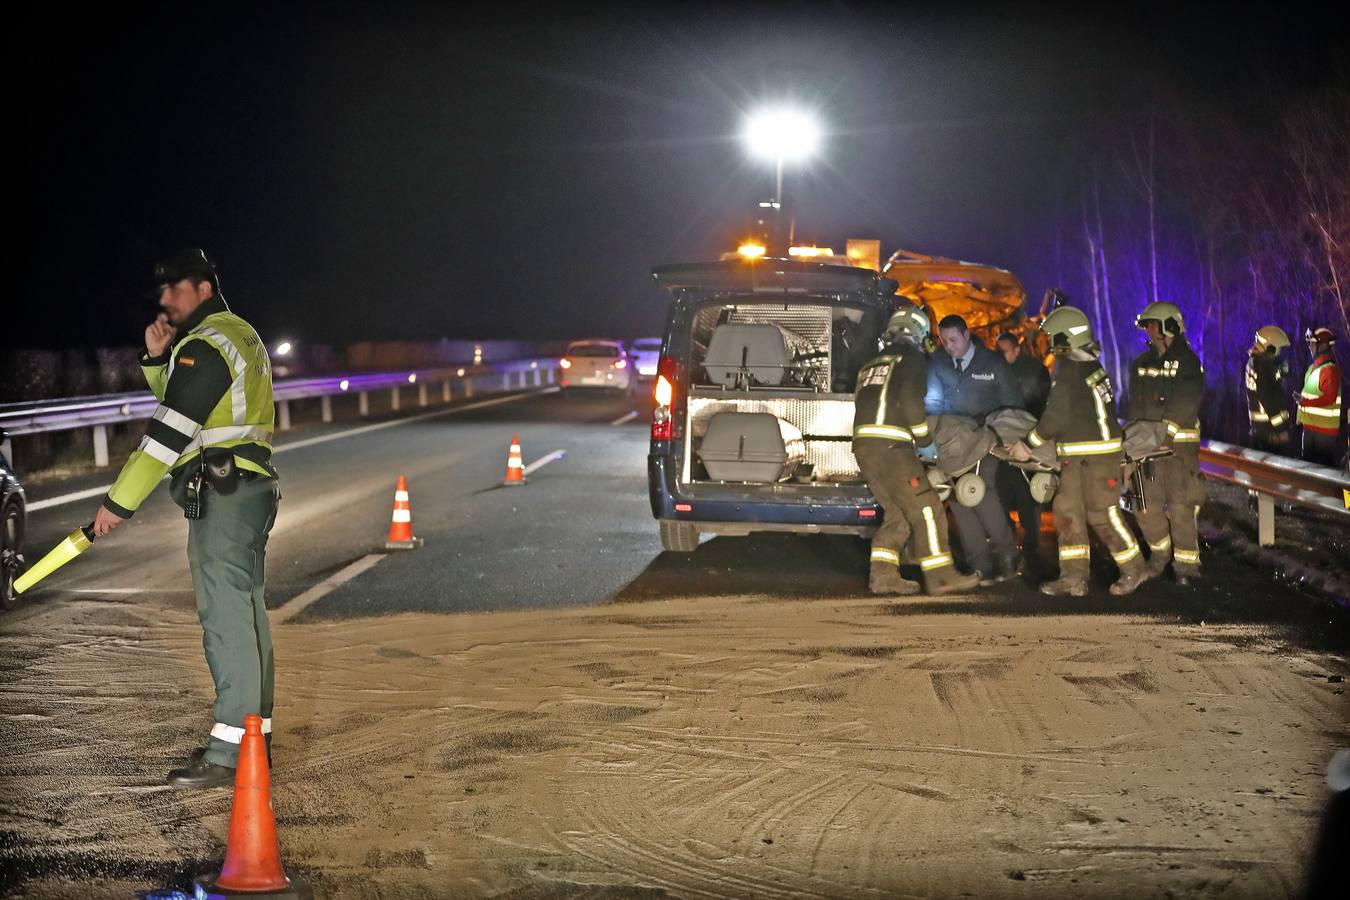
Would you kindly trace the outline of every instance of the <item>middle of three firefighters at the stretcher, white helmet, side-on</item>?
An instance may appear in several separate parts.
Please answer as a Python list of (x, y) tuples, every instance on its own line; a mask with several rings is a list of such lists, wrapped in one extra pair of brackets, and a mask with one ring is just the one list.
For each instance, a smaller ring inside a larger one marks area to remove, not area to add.
[[(1111, 552), (1120, 578), (1111, 594), (1123, 596), (1148, 580), (1148, 567), (1134, 533), (1120, 515), (1120, 467), (1125, 464), (1120, 422), (1115, 418), (1111, 379), (1102, 368), (1102, 345), (1083, 310), (1060, 306), (1041, 324), (1054, 354), (1054, 378), (1045, 413), (1026, 437), (1040, 447), (1054, 441), (1060, 487), (1054, 494), (1054, 530), (1060, 536), (1060, 578), (1042, 594), (1083, 596), (1088, 592), (1088, 529)], [(1025, 445), (1014, 445), (1029, 459)]]

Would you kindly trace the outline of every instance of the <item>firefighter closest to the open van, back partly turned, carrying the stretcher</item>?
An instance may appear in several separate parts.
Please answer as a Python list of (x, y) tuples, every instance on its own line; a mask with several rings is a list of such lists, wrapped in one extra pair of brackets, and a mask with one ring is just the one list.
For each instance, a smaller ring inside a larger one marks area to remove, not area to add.
[(921, 460), (937, 459), (923, 413), (929, 318), (918, 306), (894, 313), (882, 335), (882, 352), (857, 376), (853, 402), (853, 456), (872, 495), (886, 511), (872, 537), (868, 588), (873, 594), (915, 594), (919, 584), (900, 576), (900, 555), (913, 536), (923, 588), (956, 594), (979, 584), (956, 571), (942, 502)]

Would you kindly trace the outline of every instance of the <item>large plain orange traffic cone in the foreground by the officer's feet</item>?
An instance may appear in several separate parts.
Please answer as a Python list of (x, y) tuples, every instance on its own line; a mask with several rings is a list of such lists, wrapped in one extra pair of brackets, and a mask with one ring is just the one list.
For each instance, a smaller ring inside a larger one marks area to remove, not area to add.
[(271, 780), (267, 775), (267, 743), (262, 716), (244, 716), (235, 770), (235, 799), (230, 808), (230, 839), (225, 862), (215, 876), (193, 884), (198, 897), (308, 897), (304, 884), (293, 882), (281, 868), (277, 820), (271, 812)]

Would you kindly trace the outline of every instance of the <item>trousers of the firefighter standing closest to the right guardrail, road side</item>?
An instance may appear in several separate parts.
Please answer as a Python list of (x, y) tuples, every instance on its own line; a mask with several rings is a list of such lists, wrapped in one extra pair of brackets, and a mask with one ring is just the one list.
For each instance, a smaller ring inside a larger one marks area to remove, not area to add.
[(1204, 503), (1200, 445), (1173, 444), (1172, 456), (1153, 460), (1152, 470), (1153, 480), (1146, 486), (1148, 509), (1137, 511), (1134, 519), (1153, 559), (1165, 560), (1170, 555), (1177, 575), (1196, 576), (1200, 573), (1200, 505)]

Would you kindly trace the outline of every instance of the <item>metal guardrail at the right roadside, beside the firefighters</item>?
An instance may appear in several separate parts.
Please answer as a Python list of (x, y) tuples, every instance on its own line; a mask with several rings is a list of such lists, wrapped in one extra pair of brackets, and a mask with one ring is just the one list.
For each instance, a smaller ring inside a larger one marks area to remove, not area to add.
[(1350, 519), (1350, 475), (1335, 468), (1235, 444), (1204, 441), (1200, 472), (1257, 493), (1257, 536), (1262, 546), (1274, 544), (1276, 501)]

